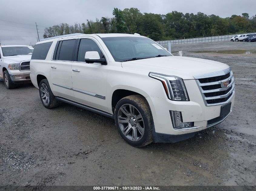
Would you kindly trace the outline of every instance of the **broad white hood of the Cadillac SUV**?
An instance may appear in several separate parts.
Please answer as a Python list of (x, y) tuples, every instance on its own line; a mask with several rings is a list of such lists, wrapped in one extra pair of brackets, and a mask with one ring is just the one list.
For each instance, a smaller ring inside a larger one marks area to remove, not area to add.
[(193, 76), (217, 72), (229, 68), (228, 65), (212, 60), (166, 56), (122, 62), (123, 68), (156, 72), (178, 76), (184, 80), (194, 79)]

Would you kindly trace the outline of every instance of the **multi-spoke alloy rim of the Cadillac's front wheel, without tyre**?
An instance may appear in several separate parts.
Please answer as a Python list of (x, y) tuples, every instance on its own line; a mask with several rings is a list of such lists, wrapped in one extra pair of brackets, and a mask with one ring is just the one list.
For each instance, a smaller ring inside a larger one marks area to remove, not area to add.
[(118, 125), (131, 141), (139, 141), (144, 135), (145, 125), (141, 113), (131, 104), (124, 104), (119, 108)]

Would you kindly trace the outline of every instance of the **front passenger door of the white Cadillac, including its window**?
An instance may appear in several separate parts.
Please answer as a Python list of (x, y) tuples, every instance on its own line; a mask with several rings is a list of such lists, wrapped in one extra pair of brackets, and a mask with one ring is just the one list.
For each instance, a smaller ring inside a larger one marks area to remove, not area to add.
[(72, 82), (76, 102), (107, 111), (106, 78), (107, 65), (85, 62), (87, 51), (98, 51), (102, 57), (102, 48), (93, 38), (79, 39), (77, 58), (72, 64)]

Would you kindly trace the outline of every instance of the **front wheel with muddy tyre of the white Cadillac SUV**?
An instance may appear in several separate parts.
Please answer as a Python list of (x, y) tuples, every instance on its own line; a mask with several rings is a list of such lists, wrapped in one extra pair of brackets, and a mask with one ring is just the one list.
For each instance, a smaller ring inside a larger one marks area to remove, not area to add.
[(153, 141), (150, 109), (140, 95), (127, 96), (118, 101), (115, 124), (121, 137), (132, 146), (143, 147)]

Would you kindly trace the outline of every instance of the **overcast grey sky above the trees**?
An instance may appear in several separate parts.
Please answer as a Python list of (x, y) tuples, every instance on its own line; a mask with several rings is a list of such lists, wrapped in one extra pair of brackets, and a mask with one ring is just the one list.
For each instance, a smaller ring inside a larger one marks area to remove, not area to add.
[(8, 0), (1, 1), (0, 42), (2, 45), (35, 44), (35, 22), (42, 39), (45, 27), (112, 17), (114, 7), (121, 10), (134, 7), (141, 13), (156, 14), (203, 12), (224, 18), (244, 12), (250, 17), (256, 14), (255, 0)]

